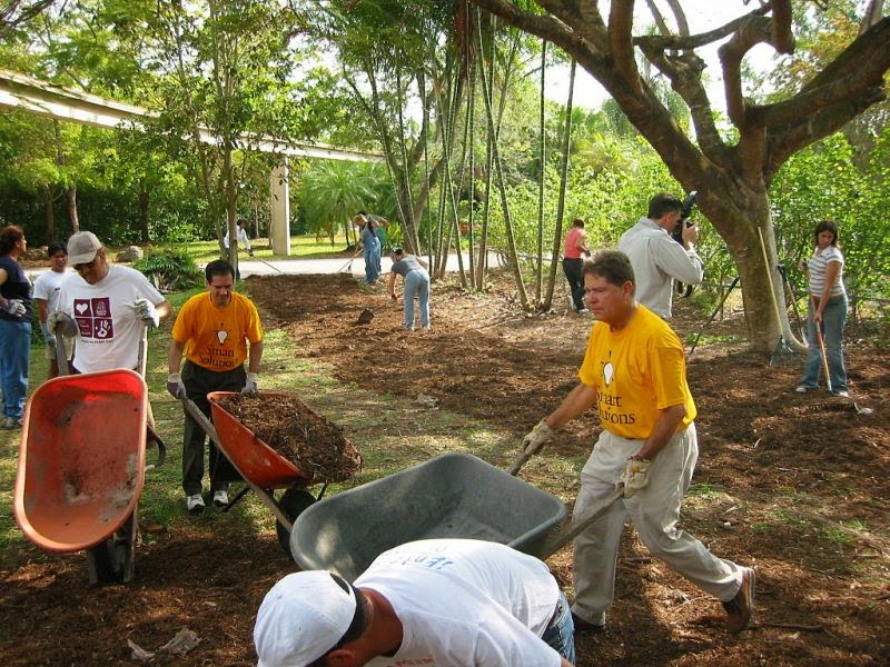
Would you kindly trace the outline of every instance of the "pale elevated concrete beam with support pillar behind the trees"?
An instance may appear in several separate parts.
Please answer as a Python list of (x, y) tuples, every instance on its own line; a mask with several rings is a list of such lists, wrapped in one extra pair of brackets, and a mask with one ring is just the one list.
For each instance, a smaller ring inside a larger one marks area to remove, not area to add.
[[(141, 107), (63, 88), (32, 77), (0, 69), (0, 107), (21, 109), (29, 113), (99, 128), (139, 130), (142, 119), (158, 115)], [(290, 187), (287, 159), (290, 156), (325, 160), (379, 162), (383, 157), (324, 143), (284, 141), (274, 137), (244, 135), (245, 150), (269, 152), (279, 157), (269, 175), (269, 241), (276, 255), (290, 255)], [(218, 143), (207, 129), (200, 129), (200, 140)]]

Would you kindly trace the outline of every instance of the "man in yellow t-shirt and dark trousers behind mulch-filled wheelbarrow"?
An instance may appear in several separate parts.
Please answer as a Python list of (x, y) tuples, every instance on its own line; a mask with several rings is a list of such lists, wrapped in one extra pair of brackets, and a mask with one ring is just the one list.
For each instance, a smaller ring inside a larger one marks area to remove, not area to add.
[[(170, 371), (167, 390), (174, 398), (187, 396), (209, 418), (209, 392), (257, 390), (263, 325), (253, 301), (233, 291), (235, 269), (228, 261), (211, 261), (205, 277), (207, 291), (186, 301), (176, 318), (167, 356)], [(180, 375), (184, 355), (186, 362)], [(190, 512), (200, 512), (205, 507), (201, 494), (205, 437), (204, 429), (186, 412), (182, 489)], [(235, 470), (214, 442), (208, 442), (208, 448), (210, 491), (214, 505), (222, 507), (228, 505), (228, 480)]]

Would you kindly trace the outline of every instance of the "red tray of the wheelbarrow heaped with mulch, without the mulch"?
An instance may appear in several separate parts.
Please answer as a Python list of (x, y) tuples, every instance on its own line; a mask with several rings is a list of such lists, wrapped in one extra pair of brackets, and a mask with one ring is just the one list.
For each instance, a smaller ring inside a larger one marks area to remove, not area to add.
[[(238, 396), (238, 394), (212, 391), (207, 395), (207, 399), (210, 401), (217, 445), (241, 477), (261, 489), (284, 489), (310, 484), (312, 478), (308, 475), (266, 445), (254, 431), (219, 405), (218, 401), (227, 396)], [(264, 396), (289, 397), (286, 394), (271, 391), (265, 391)]]

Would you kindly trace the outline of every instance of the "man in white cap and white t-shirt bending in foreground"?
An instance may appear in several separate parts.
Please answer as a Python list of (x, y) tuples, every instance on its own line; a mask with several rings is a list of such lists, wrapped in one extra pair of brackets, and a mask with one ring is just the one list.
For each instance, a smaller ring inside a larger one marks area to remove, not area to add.
[(260, 667), (570, 667), (565, 596), (537, 558), (431, 539), (385, 551), (350, 586), (333, 573), (278, 581), (257, 614)]

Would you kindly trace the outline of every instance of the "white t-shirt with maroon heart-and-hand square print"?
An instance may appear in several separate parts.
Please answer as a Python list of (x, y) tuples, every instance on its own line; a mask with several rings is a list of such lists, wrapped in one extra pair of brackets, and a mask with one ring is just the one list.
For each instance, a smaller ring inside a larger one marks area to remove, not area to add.
[(137, 299), (155, 306), (161, 293), (136, 269), (110, 265), (108, 276), (89, 285), (78, 275), (62, 283), (59, 310), (77, 321), (78, 337), (72, 365), (80, 372), (138, 365), (142, 320), (134, 308)]

